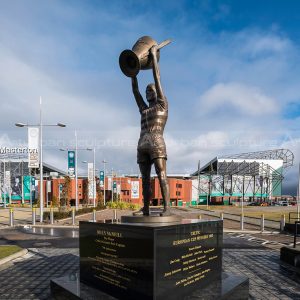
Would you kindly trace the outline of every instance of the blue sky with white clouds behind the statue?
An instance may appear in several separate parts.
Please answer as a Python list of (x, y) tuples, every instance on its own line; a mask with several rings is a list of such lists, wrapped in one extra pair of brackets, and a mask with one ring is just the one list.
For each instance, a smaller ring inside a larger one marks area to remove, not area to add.
[[(96, 146), (97, 164), (136, 172), (139, 113), (118, 57), (143, 35), (158, 42), (170, 102), (170, 173), (220, 154), (288, 148), (299, 163), (299, 1), (1, 1), (0, 144), (26, 142), (15, 122), (48, 123), (45, 159)], [(141, 92), (152, 81), (140, 72)], [(88, 160), (91, 154), (80, 155)], [(81, 166), (83, 169), (84, 166)], [(285, 190), (295, 189), (297, 167)]]

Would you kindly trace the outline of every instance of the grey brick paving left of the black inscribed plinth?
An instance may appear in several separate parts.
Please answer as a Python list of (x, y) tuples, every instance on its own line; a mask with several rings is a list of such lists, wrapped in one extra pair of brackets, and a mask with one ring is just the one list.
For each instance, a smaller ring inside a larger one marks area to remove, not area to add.
[(0, 271), (0, 299), (50, 299), (50, 279), (76, 272), (78, 249), (30, 248), (25, 259)]

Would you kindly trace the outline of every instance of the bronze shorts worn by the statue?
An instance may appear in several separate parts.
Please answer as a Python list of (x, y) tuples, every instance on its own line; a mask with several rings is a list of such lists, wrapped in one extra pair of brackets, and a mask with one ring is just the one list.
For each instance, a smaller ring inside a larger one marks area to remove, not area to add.
[(137, 162), (153, 162), (155, 158), (167, 159), (166, 144), (162, 134), (145, 133), (140, 136), (137, 147)]

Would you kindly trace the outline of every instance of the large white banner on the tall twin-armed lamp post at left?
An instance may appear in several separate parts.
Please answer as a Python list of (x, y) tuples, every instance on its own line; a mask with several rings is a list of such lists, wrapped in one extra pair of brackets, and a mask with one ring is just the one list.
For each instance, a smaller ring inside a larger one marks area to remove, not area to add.
[(39, 128), (28, 127), (28, 168), (39, 167)]

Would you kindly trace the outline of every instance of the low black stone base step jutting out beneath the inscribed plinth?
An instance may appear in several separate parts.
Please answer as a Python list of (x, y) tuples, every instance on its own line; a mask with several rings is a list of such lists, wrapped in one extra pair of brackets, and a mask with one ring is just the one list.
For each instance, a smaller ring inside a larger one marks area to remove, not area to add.
[[(98, 289), (90, 287), (79, 280), (71, 280), (69, 276), (51, 280), (51, 295), (55, 300), (116, 300)], [(195, 290), (182, 300), (246, 300), (249, 297), (249, 279), (222, 273), (221, 280), (213, 281), (203, 289)]]

